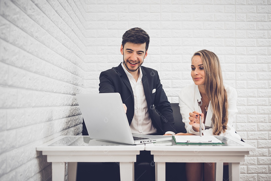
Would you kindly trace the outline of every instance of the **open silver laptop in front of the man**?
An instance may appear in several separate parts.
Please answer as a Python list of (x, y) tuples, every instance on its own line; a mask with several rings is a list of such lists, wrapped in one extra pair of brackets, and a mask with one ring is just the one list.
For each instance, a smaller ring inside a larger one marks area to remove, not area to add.
[[(89, 137), (122, 144), (171, 140), (170, 136), (133, 134), (119, 93), (76, 94)], [(133, 138), (135, 137), (135, 138)]]

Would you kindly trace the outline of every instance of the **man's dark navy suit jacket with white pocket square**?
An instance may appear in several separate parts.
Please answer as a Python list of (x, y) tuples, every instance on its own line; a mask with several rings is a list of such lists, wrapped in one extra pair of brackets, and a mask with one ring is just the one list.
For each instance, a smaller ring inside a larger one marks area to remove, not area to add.
[[(176, 132), (172, 108), (160, 83), (158, 72), (143, 66), (141, 66), (141, 70), (144, 93), (153, 126), (159, 134), (164, 134), (166, 131)], [(152, 93), (153, 89), (156, 89), (156, 92)], [(121, 64), (100, 74), (99, 93), (109, 92), (120, 93), (122, 102), (127, 106), (126, 115), (129, 125), (131, 125), (134, 117), (134, 95), (130, 81)], [(154, 119), (152, 109), (156, 109), (160, 120)]]

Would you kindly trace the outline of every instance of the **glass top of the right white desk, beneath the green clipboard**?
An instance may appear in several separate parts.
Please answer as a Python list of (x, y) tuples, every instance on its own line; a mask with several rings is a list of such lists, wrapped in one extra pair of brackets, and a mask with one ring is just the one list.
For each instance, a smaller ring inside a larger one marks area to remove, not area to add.
[(233, 140), (230, 140), (223, 136), (215, 136), (218, 140), (222, 141), (224, 144), (176, 144), (175, 141), (160, 141), (154, 143), (154, 146), (243, 146)]

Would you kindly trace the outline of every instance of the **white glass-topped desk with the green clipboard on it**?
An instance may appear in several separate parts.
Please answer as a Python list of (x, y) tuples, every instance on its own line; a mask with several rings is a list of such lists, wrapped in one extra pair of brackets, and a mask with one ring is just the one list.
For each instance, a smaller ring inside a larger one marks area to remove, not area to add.
[(230, 181), (240, 180), (240, 162), (244, 161), (245, 155), (248, 155), (249, 151), (254, 151), (256, 148), (227, 136), (216, 137), (225, 144), (183, 145), (176, 144), (174, 140), (163, 141), (160, 144), (159, 142), (146, 144), (145, 150), (151, 151), (151, 154), (154, 155), (157, 181), (166, 180), (166, 162), (214, 162), (216, 163), (215, 178), (221, 181), (223, 162), (228, 162)]

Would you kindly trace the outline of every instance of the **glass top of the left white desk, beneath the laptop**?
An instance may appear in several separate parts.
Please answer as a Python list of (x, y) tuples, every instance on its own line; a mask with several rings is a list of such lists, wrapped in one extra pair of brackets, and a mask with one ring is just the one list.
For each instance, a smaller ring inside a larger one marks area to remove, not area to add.
[(110, 143), (92, 139), (89, 136), (66, 136), (49, 146), (126, 146), (125, 144)]

